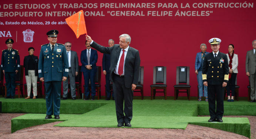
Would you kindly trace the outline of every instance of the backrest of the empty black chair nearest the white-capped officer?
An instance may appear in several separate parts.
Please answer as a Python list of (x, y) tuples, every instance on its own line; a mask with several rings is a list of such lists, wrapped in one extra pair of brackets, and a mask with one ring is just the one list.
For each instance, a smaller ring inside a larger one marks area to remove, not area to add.
[(176, 84), (189, 85), (189, 67), (178, 66), (176, 68)]

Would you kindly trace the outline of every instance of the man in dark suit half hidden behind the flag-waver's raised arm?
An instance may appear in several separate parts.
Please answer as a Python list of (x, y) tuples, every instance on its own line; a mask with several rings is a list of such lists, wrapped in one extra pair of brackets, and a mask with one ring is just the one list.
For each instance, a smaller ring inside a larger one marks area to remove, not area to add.
[[(110, 39), (108, 40), (108, 45), (110, 47), (114, 46), (114, 40)], [(103, 74), (106, 76), (106, 99), (110, 100), (111, 98), (111, 92), (110, 92), (110, 54), (103, 54), (102, 58), (102, 71)], [(114, 93), (112, 93), (112, 99), (115, 100)]]

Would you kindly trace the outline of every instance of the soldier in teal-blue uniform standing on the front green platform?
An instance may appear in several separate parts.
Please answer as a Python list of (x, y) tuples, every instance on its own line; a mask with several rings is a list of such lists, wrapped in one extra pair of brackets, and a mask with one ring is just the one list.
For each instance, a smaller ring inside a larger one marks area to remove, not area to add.
[(66, 48), (64, 44), (57, 43), (57, 34), (57, 30), (47, 32), (50, 43), (41, 46), (38, 62), (38, 75), (46, 89), (45, 119), (50, 119), (53, 114), (55, 119), (60, 119), (61, 81), (68, 77)]

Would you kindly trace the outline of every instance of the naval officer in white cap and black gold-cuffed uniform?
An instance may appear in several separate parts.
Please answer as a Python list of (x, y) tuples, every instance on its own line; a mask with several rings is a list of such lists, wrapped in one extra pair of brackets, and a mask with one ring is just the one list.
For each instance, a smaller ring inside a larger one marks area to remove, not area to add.
[[(209, 98), (210, 119), (208, 122), (223, 122), (223, 93), (224, 87), (226, 87), (229, 80), (229, 65), (227, 55), (219, 52), (220, 42), (221, 40), (219, 38), (212, 38), (209, 40), (212, 52), (207, 54), (203, 61), (203, 85), (207, 86)], [(217, 102), (216, 111), (215, 99)]]

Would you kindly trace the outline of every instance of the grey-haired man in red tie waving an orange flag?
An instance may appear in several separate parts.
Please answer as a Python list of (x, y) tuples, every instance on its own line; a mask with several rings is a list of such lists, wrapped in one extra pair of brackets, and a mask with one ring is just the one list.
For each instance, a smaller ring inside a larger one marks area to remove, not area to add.
[(113, 47), (101, 46), (88, 35), (86, 39), (92, 48), (110, 54), (110, 79), (113, 82), (117, 126), (122, 127), (125, 123), (125, 126), (131, 127), (133, 91), (138, 84), (141, 62), (139, 51), (129, 46), (131, 37), (128, 34), (120, 35), (119, 44)]

